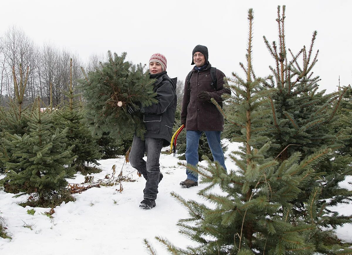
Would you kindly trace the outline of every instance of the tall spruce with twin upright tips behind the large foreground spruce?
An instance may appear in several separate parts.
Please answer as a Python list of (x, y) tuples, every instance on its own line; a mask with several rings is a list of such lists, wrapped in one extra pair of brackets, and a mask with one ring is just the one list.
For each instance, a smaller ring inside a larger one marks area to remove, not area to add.
[[(302, 187), (301, 196), (291, 201), (297, 219), (305, 217), (306, 199), (320, 190), (315, 214), (323, 216), (317, 226), (320, 229), (335, 229), (351, 222), (351, 216), (341, 215), (334, 210), (338, 204), (349, 203), (352, 192), (341, 188), (339, 183), (352, 173), (350, 155), (341, 155), (344, 147), (342, 136), (336, 133), (338, 115), (345, 90), (325, 94), (319, 91), (319, 76), (314, 76), (313, 68), (318, 61), (319, 50), (313, 45), (317, 32), (313, 33), (308, 49), (304, 46), (297, 54), (287, 50), (285, 37), (285, 6), (277, 8), (278, 43), (264, 42), (275, 65), (270, 66), (273, 78), (265, 83), (266, 88), (276, 88), (269, 97), (271, 121), (264, 132), (273, 141), (267, 152), (268, 157), (283, 162), (297, 152), (307, 157), (321, 149), (330, 148), (332, 152), (312, 168), (315, 177)], [(316, 233), (312, 240), (317, 244), (331, 240), (325, 231)], [(337, 239), (337, 238), (335, 238)]]

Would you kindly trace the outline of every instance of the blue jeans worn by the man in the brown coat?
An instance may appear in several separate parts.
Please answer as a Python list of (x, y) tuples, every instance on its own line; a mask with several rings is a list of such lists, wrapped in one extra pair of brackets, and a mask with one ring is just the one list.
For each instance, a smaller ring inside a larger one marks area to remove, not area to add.
[[(222, 167), (226, 169), (224, 152), (222, 151), (220, 144), (220, 133), (221, 131), (204, 131), (207, 136), (210, 151), (212, 151), (214, 161), (218, 161)], [(198, 146), (199, 139), (203, 131), (191, 131), (187, 130), (186, 133), (186, 161), (187, 164), (196, 166), (198, 164)], [(195, 173), (186, 168), (187, 179), (198, 181), (198, 173)]]

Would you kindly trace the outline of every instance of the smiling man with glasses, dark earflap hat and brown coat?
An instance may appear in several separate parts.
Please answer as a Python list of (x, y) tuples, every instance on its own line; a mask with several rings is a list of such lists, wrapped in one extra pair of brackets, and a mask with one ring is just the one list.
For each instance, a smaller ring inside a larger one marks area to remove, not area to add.
[[(224, 130), (224, 116), (210, 101), (222, 102), (222, 94), (231, 94), (224, 87), (225, 75), (212, 67), (208, 61), (208, 48), (197, 45), (192, 51), (192, 63), (195, 67), (186, 77), (181, 110), (181, 123), (186, 128), (187, 164), (198, 164), (199, 139), (205, 132), (214, 161), (226, 169), (224, 152), (220, 144), (220, 133)], [(226, 82), (227, 83), (227, 82)], [(198, 186), (198, 174), (186, 169), (187, 179), (181, 181), (183, 187)]]

